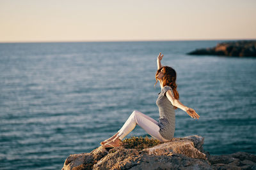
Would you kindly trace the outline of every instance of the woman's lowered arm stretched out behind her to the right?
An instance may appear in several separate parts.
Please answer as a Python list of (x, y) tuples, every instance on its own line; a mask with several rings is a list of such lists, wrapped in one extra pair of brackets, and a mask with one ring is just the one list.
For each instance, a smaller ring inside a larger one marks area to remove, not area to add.
[(187, 106), (185, 106), (184, 104), (182, 104), (179, 100), (175, 99), (172, 96), (172, 92), (171, 90), (168, 90), (166, 92), (166, 97), (169, 99), (169, 101), (172, 103), (173, 106), (180, 108), (183, 111), (186, 111), (188, 113), (188, 115), (192, 118), (199, 118), (200, 116), (196, 113), (195, 110), (193, 110), (192, 108), (188, 108)]

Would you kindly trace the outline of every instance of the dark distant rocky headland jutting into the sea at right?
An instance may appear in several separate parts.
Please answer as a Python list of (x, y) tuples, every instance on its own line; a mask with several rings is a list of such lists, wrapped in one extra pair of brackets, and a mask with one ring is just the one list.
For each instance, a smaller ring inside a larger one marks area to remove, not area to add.
[(227, 41), (212, 48), (200, 48), (189, 55), (226, 55), (234, 57), (256, 57), (256, 41)]

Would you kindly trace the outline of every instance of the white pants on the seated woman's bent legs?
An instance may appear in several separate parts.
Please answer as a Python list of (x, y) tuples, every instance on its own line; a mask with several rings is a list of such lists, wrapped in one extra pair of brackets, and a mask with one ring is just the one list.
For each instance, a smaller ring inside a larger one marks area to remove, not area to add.
[(147, 115), (141, 113), (140, 111), (134, 110), (130, 117), (126, 120), (123, 127), (118, 131), (119, 139), (124, 139), (129, 132), (131, 132), (136, 125), (139, 125), (142, 129), (144, 129), (148, 134), (150, 134), (153, 138), (161, 142), (169, 141), (164, 139), (159, 133), (159, 125), (156, 120), (148, 117)]

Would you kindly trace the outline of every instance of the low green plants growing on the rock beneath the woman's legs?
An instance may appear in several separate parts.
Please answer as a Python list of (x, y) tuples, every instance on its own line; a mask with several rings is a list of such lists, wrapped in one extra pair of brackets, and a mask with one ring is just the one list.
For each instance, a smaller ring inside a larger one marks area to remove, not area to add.
[(147, 136), (145, 138), (142, 138), (141, 136), (132, 136), (131, 138), (124, 139), (122, 142), (122, 146), (124, 148), (132, 148), (137, 150), (143, 150), (145, 148), (150, 148), (162, 143), (161, 141), (158, 141), (154, 138), (149, 139)]

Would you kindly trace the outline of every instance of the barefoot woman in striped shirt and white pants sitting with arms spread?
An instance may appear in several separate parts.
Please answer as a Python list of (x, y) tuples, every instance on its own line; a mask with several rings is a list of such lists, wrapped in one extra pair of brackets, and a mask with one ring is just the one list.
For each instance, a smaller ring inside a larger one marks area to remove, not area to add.
[[(102, 141), (102, 147), (109, 148), (122, 145), (124, 139), (136, 125), (140, 125), (148, 134), (161, 142), (170, 141), (175, 131), (175, 109), (180, 108), (186, 111), (192, 118), (199, 118), (199, 115), (192, 108), (188, 108), (179, 101), (179, 93), (176, 85), (176, 72), (172, 67), (161, 65), (164, 55), (159, 53), (157, 57), (156, 83), (160, 82), (161, 92), (156, 104), (159, 108), (159, 122), (140, 111), (134, 110), (123, 127), (111, 138)], [(155, 85), (156, 85), (155, 83)]]

